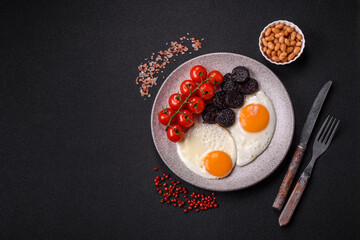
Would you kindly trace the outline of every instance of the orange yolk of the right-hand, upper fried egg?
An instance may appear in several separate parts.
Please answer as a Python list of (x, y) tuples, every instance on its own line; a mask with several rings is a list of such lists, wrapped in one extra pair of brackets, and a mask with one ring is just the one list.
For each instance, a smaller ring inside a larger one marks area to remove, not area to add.
[(239, 121), (245, 131), (260, 132), (268, 125), (269, 118), (270, 115), (266, 107), (252, 103), (241, 109)]

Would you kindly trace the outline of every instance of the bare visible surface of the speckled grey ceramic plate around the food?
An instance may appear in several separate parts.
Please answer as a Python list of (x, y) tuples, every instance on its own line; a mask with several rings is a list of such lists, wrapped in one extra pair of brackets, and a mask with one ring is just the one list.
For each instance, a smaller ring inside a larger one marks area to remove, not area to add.
[[(228, 177), (219, 180), (206, 179), (189, 170), (177, 155), (176, 144), (167, 139), (165, 127), (157, 119), (161, 109), (168, 106), (169, 96), (179, 91), (181, 82), (190, 78), (190, 69), (198, 64), (206, 67), (208, 71), (218, 70), (223, 74), (240, 65), (247, 67), (250, 76), (258, 80), (260, 89), (271, 99), (276, 112), (276, 130), (268, 148), (250, 164), (244, 167), (235, 166)], [(153, 140), (165, 164), (186, 182), (212, 191), (243, 189), (269, 176), (280, 165), (290, 147), (294, 124), (291, 100), (279, 78), (263, 64), (234, 53), (206, 54), (179, 66), (161, 86), (151, 113)]]

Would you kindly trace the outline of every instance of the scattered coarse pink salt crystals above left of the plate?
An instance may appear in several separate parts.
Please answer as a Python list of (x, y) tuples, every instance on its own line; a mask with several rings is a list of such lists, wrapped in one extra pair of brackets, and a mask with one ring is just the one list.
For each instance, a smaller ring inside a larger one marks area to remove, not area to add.
[[(193, 37), (189, 37), (189, 33), (186, 34), (187, 36), (180, 37), (180, 42), (171, 41), (170, 47), (165, 50), (161, 50), (155, 53), (152, 53), (150, 58), (145, 58), (145, 63), (140, 63), (138, 66), (139, 75), (135, 79), (136, 84), (140, 84), (140, 94), (141, 97), (148, 96), (150, 97), (151, 94), (149, 93), (149, 88), (156, 85), (156, 81), (159, 78), (159, 74), (163, 73), (163, 69), (166, 68), (166, 65), (170, 63), (170, 59), (173, 57), (178, 56), (179, 54), (185, 54), (192, 52), (189, 51), (189, 43), (191, 43), (191, 48), (194, 51), (198, 51), (201, 46), (201, 41), (204, 41), (204, 38), (200, 40), (195, 39)], [(169, 43), (166, 43), (169, 45)], [(176, 59), (173, 59), (175, 62)], [(165, 76), (162, 76), (165, 78)]]

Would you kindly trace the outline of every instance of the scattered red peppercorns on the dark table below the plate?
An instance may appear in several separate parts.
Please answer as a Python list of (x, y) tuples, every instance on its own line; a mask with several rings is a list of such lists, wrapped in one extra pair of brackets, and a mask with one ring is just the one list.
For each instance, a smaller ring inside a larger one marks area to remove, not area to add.
[(206, 211), (219, 206), (216, 203), (214, 192), (209, 196), (204, 196), (203, 194), (197, 194), (195, 192), (188, 195), (187, 189), (185, 187), (180, 187), (180, 181), (173, 180), (170, 177), (170, 174), (164, 173), (162, 176), (156, 176), (154, 183), (156, 191), (163, 197), (160, 199), (160, 203), (172, 204), (174, 207), (178, 208), (184, 207), (184, 213), (188, 213), (191, 210), (195, 210), (196, 212)]

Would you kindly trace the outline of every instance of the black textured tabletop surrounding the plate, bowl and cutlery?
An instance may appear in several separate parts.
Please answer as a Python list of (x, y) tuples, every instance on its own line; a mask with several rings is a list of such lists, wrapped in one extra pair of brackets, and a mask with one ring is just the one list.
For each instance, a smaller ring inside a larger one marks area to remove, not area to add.
[[(358, 1), (11, 1), (0, 18), (1, 239), (359, 239)], [(258, 49), (260, 31), (277, 19), (305, 34), (291, 65), (272, 65)], [(270, 177), (218, 193), (218, 209), (185, 215), (161, 205), (153, 187), (156, 173), (170, 172), (150, 132), (162, 80), (146, 101), (134, 80), (145, 57), (187, 32), (205, 38), (203, 49), (177, 58), (165, 76), (200, 54), (254, 58), (287, 88), (296, 129)], [(271, 205), (328, 80), (315, 131), (327, 114), (341, 126), (280, 228)]]

